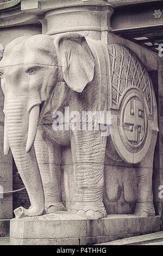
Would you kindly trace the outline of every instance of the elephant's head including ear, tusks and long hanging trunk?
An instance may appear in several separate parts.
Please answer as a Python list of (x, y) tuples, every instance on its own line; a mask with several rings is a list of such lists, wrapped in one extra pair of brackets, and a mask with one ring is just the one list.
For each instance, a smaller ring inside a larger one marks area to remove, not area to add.
[(24, 209), (24, 215), (41, 215), (44, 210), (33, 147), (43, 106), (60, 81), (80, 93), (93, 80), (94, 72), (92, 52), (84, 36), (77, 33), (61, 34), (54, 39), (48, 35), (21, 36), (5, 47), (0, 62), (5, 96), (4, 154), (11, 148), (30, 198), (31, 206)]

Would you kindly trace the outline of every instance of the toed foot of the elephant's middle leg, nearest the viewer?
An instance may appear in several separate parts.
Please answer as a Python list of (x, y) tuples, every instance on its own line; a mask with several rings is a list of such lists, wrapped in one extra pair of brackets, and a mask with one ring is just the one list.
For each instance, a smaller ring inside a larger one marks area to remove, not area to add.
[(73, 202), (68, 211), (93, 219), (106, 217), (106, 210), (102, 202)]

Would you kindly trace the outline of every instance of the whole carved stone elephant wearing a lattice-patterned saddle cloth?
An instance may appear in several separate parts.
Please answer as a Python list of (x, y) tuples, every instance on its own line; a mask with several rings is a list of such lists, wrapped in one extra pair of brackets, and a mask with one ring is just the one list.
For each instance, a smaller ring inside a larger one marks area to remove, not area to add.
[[(135, 214), (155, 215), (156, 101), (148, 72), (133, 52), (78, 33), (21, 36), (5, 47), (0, 74), (5, 95), (4, 154), (11, 149), (31, 204), (29, 209), (16, 209), (17, 218), (66, 211), (56, 163), (62, 145), (70, 144), (75, 192), (68, 211), (106, 217), (106, 143), (110, 155), (137, 168)], [(86, 113), (85, 124), (92, 121), (92, 129), (60, 129), (60, 121), (54, 129), (58, 111), (64, 113), (64, 127), (69, 124), (65, 107), (78, 117)], [(110, 113), (109, 122), (105, 117), (99, 120), (99, 115), (87, 119), (89, 111)]]

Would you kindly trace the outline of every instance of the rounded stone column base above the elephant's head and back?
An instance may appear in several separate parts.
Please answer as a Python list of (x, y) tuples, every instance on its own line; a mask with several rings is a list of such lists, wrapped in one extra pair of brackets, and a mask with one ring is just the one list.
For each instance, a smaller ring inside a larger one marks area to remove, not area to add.
[(79, 32), (100, 40), (101, 32), (110, 31), (110, 17), (113, 9), (109, 6), (78, 6), (60, 8), (45, 14), (47, 34)]

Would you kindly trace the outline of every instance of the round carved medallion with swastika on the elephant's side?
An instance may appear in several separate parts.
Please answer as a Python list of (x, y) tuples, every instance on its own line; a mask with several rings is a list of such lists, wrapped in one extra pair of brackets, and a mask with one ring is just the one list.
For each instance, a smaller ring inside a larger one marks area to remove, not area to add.
[(112, 114), (111, 137), (123, 160), (140, 162), (151, 143), (151, 116), (141, 90), (129, 88), (122, 95), (120, 109)]

